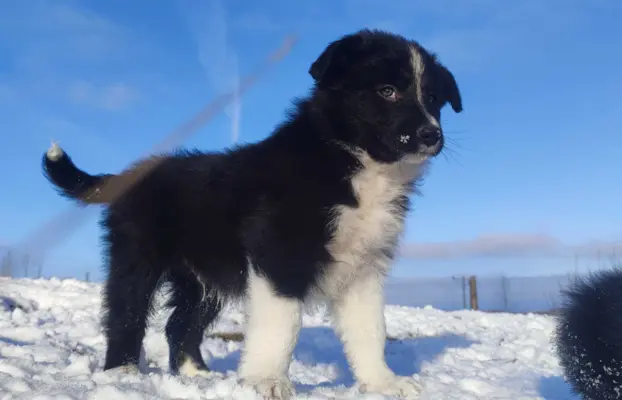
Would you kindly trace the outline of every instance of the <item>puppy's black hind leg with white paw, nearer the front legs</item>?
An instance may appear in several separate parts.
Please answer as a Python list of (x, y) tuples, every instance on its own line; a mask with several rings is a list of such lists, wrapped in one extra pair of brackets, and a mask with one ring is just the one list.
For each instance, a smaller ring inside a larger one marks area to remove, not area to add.
[(189, 273), (173, 272), (170, 278), (175, 307), (166, 324), (169, 366), (172, 373), (206, 376), (209, 372), (201, 356), (201, 342), (207, 327), (218, 317), (222, 306), (210, 288)]

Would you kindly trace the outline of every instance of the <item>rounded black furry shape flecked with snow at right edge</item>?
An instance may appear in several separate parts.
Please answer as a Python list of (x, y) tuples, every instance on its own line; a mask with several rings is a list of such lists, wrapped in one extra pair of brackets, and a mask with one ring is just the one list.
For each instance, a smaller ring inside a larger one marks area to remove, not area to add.
[(563, 294), (554, 344), (567, 381), (585, 400), (622, 398), (622, 270), (577, 279)]

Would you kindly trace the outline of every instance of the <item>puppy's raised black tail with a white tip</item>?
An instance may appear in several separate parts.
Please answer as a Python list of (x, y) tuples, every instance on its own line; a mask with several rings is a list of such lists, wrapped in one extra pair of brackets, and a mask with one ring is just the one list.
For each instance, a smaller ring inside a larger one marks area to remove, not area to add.
[(81, 204), (105, 204), (100, 187), (114, 175), (90, 175), (73, 163), (56, 143), (43, 156), (43, 173), (56, 187), (58, 193)]

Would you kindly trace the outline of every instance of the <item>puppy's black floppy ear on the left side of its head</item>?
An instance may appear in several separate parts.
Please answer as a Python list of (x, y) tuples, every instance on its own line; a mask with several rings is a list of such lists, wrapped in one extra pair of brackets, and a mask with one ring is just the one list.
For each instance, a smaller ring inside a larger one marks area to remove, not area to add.
[(315, 83), (338, 87), (347, 73), (348, 65), (360, 58), (363, 42), (360, 35), (348, 35), (329, 44), (309, 68), (309, 74)]

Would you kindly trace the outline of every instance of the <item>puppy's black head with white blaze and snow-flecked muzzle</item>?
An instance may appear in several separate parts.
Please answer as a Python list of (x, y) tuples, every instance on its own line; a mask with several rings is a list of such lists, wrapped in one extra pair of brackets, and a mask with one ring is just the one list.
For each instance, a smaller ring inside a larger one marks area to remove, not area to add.
[(456, 81), (414, 41), (362, 30), (331, 43), (309, 73), (344, 124), (340, 139), (379, 161), (443, 149), (441, 109), (462, 111)]

